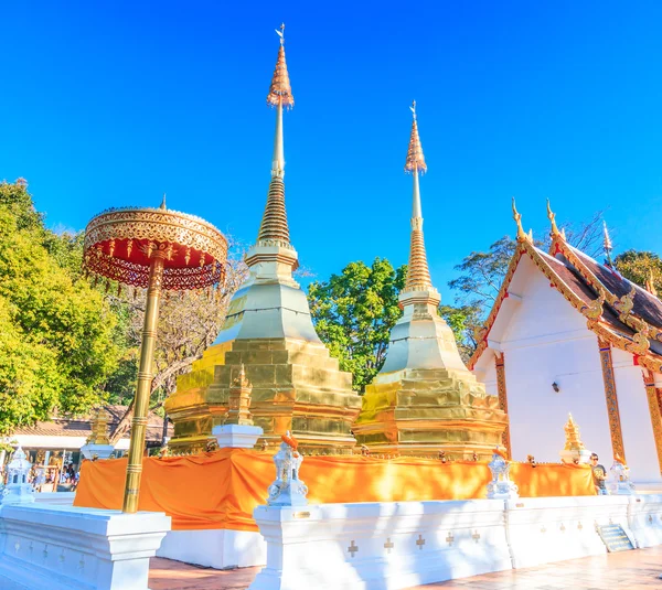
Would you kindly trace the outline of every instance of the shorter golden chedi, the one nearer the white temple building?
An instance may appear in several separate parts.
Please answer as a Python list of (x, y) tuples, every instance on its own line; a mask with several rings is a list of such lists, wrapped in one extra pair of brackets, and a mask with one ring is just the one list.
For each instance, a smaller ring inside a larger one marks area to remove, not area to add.
[(423, 236), (419, 174), (427, 170), (414, 121), (405, 171), (414, 178), (412, 242), (405, 288), (399, 294), (403, 317), (391, 332), (386, 361), (365, 389), (363, 407), (352, 430), (359, 444), (373, 453), (450, 459), (492, 457), (506, 426), (496, 396), (460, 358), (452, 331), (437, 313), (441, 298), (433, 287)]

